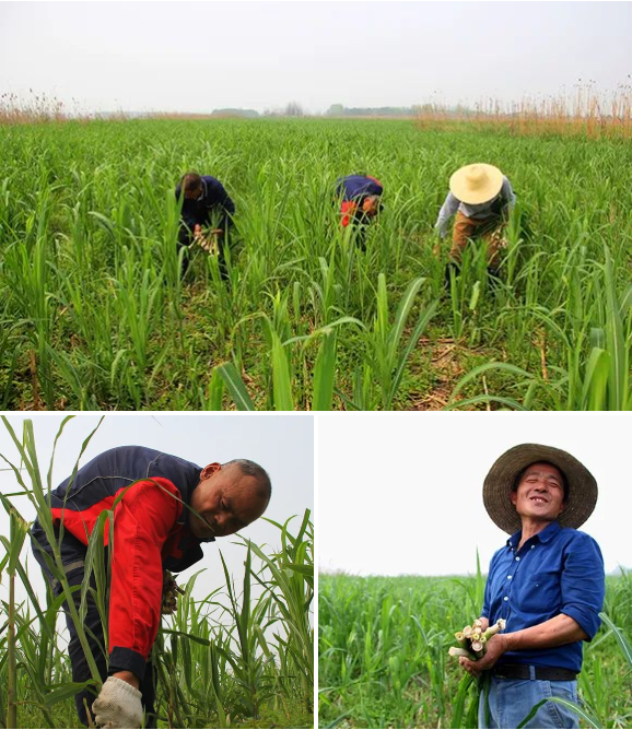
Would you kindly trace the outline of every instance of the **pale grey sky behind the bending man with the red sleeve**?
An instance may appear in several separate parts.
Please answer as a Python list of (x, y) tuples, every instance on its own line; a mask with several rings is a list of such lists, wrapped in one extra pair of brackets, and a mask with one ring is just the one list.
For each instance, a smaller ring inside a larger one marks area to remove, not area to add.
[[(37, 444), (37, 457), (43, 479), (46, 479), (55, 435), (65, 414), (14, 414), (8, 415), (9, 422), (22, 435), (22, 423), (25, 417), (34, 421)], [(98, 423), (97, 415), (79, 415), (65, 428), (58, 441), (52, 472), (52, 485), (57, 486), (72, 473), (74, 462), (81, 450), (81, 443)], [(141, 445), (174, 454), (192, 461), (200, 467), (213, 461), (230, 461), (246, 458), (260, 463), (270, 474), (272, 482), (272, 499), (266, 517), (284, 522), (292, 515), (297, 519), (291, 522), (294, 534), (300, 526), (305, 508), (314, 508), (314, 436), (312, 415), (265, 415), (253, 414), (191, 414), (171, 415), (159, 413), (155, 416), (145, 414), (109, 414), (93, 436), (81, 459), (80, 466), (96, 455), (114, 446)], [(11, 441), (4, 424), (0, 422), (0, 454), (10, 460), (19, 460), (19, 455)], [(7, 464), (2, 462), (0, 469)], [(26, 481), (28, 484), (28, 481)], [(0, 471), (0, 492), (10, 494), (20, 491), (12, 472)], [(35, 510), (27, 497), (11, 497), (28, 521), (35, 517)], [(0, 534), (9, 533), (9, 519), (0, 506)], [(245, 538), (259, 545), (268, 544), (269, 553), (281, 545), (280, 531), (257, 520), (241, 531)], [(224, 585), (224, 574), (219, 551), (222, 551), (229, 569), (235, 576), (235, 584), (241, 587), (244, 576), (245, 550), (234, 544), (235, 538), (221, 538), (214, 543), (202, 545), (204, 558), (196, 563), (178, 577), (182, 585), (200, 568), (207, 568), (196, 582), (194, 596), (206, 597), (218, 586)], [(3, 550), (0, 549), (0, 554)], [(24, 554), (28, 553), (25, 550)], [(37, 591), (44, 596), (44, 581), (39, 567), (31, 556), (30, 577), (34, 580)], [(4, 581), (5, 582), (5, 581)], [(5, 586), (0, 589), (4, 598)]]

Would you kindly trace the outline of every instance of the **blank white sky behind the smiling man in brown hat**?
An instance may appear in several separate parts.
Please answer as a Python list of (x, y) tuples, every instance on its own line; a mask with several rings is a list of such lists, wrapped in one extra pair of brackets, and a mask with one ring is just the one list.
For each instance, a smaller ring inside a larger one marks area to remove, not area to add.
[(492, 463), (517, 444), (571, 452), (599, 498), (581, 530), (606, 572), (632, 568), (625, 413), (346, 413), (318, 423), (320, 569), (354, 575), (487, 573), (506, 541), (482, 503)]

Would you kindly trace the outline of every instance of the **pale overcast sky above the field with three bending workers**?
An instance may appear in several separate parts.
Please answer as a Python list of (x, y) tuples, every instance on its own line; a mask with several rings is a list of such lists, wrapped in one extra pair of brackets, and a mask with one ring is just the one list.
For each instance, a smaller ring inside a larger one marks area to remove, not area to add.
[(0, 93), (84, 111), (605, 93), (631, 33), (630, 2), (0, 2)]

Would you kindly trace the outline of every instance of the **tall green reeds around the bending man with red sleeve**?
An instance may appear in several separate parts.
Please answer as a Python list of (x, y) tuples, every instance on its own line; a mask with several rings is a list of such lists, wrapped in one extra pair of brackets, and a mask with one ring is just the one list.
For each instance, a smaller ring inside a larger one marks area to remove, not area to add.
[[(82, 726), (73, 695), (87, 685), (98, 694), (102, 681), (85, 645), (93, 679), (85, 684), (72, 682), (60, 614), (61, 602), (72, 596), (72, 589), (45, 503), (50, 470), (46, 475), (37, 463), (30, 421), (22, 435), (11, 433), (22, 464), (3, 471), (22, 470), (14, 472), (14, 492), (3, 488), (0, 493), (0, 508), (11, 516), (10, 533), (0, 535), (0, 728), (78, 728)], [(9, 481), (7, 474), (2, 479)], [(33, 588), (33, 576), (40, 568), (31, 554), (28, 525), (11, 502), (23, 494), (35, 505), (56, 551), (56, 564), (50, 567), (63, 589), (57, 599), (49, 590), (37, 596)], [(110, 566), (103, 531), (108, 518), (110, 510), (101, 515), (90, 540), (78, 605), (69, 601), (82, 644), (89, 599), (96, 602), (107, 636)], [(178, 598), (177, 612), (163, 616), (152, 650), (159, 728), (314, 727), (314, 528), (309, 510), (284, 525), (272, 523), (279, 529), (277, 545), (259, 546), (235, 535), (243, 545), (244, 572), (230, 575), (222, 557), (225, 585), (203, 599), (192, 596), (196, 580), (203, 579), (202, 570), (184, 585), (178, 580), (185, 594)]]

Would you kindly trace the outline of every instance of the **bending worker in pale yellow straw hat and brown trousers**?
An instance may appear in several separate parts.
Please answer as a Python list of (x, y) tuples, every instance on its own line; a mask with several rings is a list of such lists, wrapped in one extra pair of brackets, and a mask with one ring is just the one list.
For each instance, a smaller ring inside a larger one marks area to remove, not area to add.
[(448, 221), (456, 213), (447, 275), (450, 268), (458, 271), (464, 248), (470, 238), (478, 236), (487, 244), (489, 271), (496, 275), (500, 251), (506, 246), (504, 223), (515, 202), (512, 185), (498, 167), (479, 163), (457, 169), (449, 178), (449, 192), (435, 224), (440, 236), (445, 238)]

